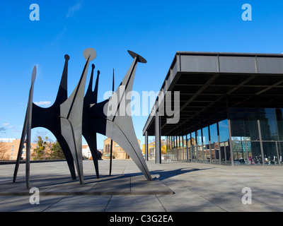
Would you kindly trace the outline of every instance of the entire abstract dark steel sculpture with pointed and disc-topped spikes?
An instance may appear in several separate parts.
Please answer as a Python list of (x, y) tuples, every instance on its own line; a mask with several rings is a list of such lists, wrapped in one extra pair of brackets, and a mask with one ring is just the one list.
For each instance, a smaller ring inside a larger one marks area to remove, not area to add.
[[(35, 127), (44, 127), (54, 134), (64, 152), (71, 178), (76, 179), (77, 171), (81, 184), (83, 184), (82, 136), (86, 139), (86, 142), (91, 149), (93, 163), (96, 169), (96, 177), (99, 178), (96, 141), (97, 133), (108, 136), (111, 140), (119, 143), (136, 163), (137, 167), (139, 167), (144, 174), (144, 177), (149, 181), (152, 180), (149, 169), (147, 168), (141, 153), (141, 149), (139, 148), (139, 144), (137, 143), (137, 136), (134, 132), (132, 117), (127, 114), (120, 115), (118, 113), (120, 112), (120, 109), (125, 108), (131, 101), (127, 99), (125, 100), (125, 96), (132, 91), (137, 63), (146, 63), (146, 60), (139, 56), (139, 54), (135, 54), (131, 51), (128, 52), (134, 58), (129, 71), (117, 90), (113, 92), (112, 96), (108, 98), (108, 100), (99, 103), (97, 102), (97, 97), (100, 71), (98, 71), (98, 76), (96, 78), (95, 89), (92, 90), (93, 71), (95, 69), (93, 64), (88, 90), (86, 91), (86, 95), (83, 96), (86, 86), (88, 65), (90, 61), (96, 58), (95, 49), (89, 48), (83, 51), (83, 57), (86, 59), (86, 64), (83, 68), (79, 83), (69, 97), (67, 96), (69, 56), (65, 55), (64, 70), (57, 98), (54, 104), (48, 108), (38, 107), (33, 103), (33, 87), (36, 75), (36, 67), (34, 67), (21, 143), (13, 174), (13, 182), (16, 182), (18, 167), (23, 153), (23, 143), (26, 141), (25, 182), (27, 188), (30, 187), (30, 131)], [(112, 91), (114, 91), (114, 74)], [(113, 100), (118, 100), (115, 114), (108, 114), (108, 109), (109, 107), (112, 107)]]

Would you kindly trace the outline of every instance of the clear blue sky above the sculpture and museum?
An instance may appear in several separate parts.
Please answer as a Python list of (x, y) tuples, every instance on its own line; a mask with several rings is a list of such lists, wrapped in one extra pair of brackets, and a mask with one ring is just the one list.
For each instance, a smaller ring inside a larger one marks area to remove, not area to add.
[[(30, 4), (40, 6), (40, 20), (31, 21)], [(252, 20), (243, 21), (242, 5), (252, 6)], [(283, 52), (282, 1), (1, 1), (0, 2), (0, 138), (21, 138), (33, 66), (37, 78), (33, 102), (54, 102), (69, 54), (69, 94), (85, 63), (83, 50), (96, 49), (100, 70), (98, 101), (124, 78), (137, 52), (133, 90), (157, 92), (177, 51)], [(88, 70), (88, 78), (91, 70)], [(47, 106), (42, 106), (47, 107)], [(147, 116), (134, 117), (137, 137)], [(42, 119), (43, 120), (43, 119)], [(35, 139), (37, 130), (33, 129)], [(48, 136), (52, 138), (52, 133)], [(103, 148), (104, 136), (98, 136)]]

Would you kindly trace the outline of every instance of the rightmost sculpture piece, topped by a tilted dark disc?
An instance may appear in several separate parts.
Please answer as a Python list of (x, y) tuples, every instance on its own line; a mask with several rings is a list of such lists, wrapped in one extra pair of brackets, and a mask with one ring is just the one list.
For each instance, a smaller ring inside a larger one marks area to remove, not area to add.
[[(152, 180), (152, 178), (149, 173), (149, 169), (146, 166), (146, 162), (144, 161), (144, 157), (141, 153), (139, 144), (137, 143), (137, 136), (134, 132), (132, 117), (128, 116), (127, 114), (124, 116), (118, 114), (120, 112), (120, 109), (127, 106), (127, 102), (122, 103), (121, 100), (126, 96), (128, 92), (132, 91), (137, 63), (139, 61), (141, 61), (141, 63), (146, 62), (146, 60), (138, 54), (135, 54), (133, 52), (129, 52), (129, 54), (134, 57), (134, 60), (132, 61), (132, 64), (129, 67), (129, 71), (123, 79), (121, 85), (112, 95), (112, 97), (116, 95), (117, 98), (110, 97), (104, 102), (93, 105), (91, 107), (91, 114), (89, 117), (92, 120), (91, 122), (93, 124), (93, 130), (96, 130), (96, 132), (108, 136), (111, 140), (118, 143), (120, 147), (125, 150), (130, 157), (132, 157), (132, 160), (139, 167), (146, 179), (150, 181)], [(114, 115), (108, 114), (108, 112), (106, 112), (105, 114), (104, 112), (105, 109), (107, 110), (109, 105), (111, 105), (110, 100), (119, 100)]]

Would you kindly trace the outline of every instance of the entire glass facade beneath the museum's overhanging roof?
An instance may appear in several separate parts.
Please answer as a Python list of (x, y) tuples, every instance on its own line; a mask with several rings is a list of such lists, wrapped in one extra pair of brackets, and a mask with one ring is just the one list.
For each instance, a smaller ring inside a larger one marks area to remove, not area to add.
[[(226, 165), (282, 165), (283, 109), (229, 108), (229, 119), (187, 135), (175, 160)], [(230, 125), (230, 129), (229, 129)], [(169, 148), (168, 153), (173, 149)], [(178, 154), (180, 152), (181, 154)]]

